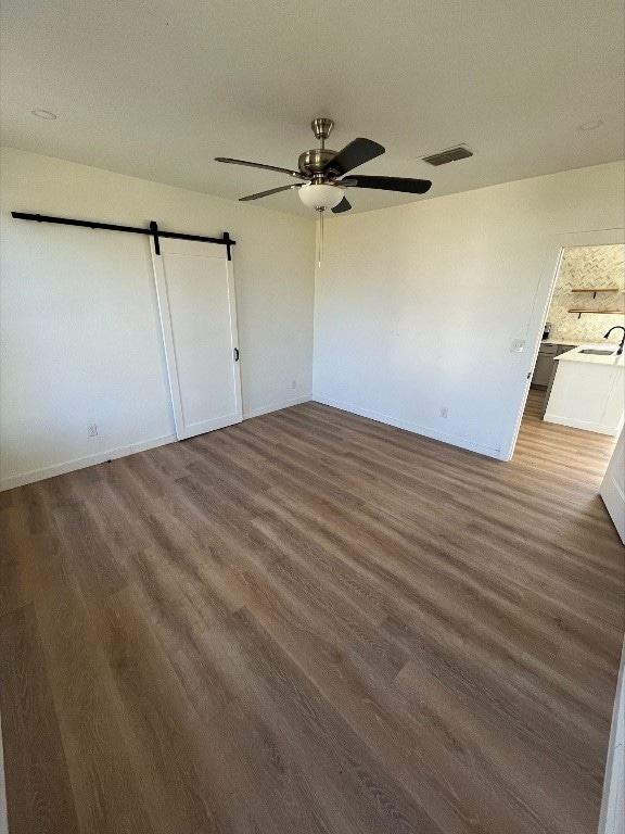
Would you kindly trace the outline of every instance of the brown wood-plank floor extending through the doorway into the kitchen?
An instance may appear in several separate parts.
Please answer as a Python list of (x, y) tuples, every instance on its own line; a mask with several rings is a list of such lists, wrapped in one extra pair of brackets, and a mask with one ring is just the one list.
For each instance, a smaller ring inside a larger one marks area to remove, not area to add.
[(12, 834), (595, 834), (612, 442), (306, 404), (2, 493)]

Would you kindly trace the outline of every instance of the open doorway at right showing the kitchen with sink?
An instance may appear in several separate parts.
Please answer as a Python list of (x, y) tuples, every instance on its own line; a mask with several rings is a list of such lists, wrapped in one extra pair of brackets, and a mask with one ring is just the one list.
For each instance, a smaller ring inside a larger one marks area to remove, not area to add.
[(540, 450), (544, 472), (551, 459), (554, 477), (563, 460), (582, 467), (622, 539), (624, 255), (623, 243), (560, 247), (514, 447), (515, 457)]

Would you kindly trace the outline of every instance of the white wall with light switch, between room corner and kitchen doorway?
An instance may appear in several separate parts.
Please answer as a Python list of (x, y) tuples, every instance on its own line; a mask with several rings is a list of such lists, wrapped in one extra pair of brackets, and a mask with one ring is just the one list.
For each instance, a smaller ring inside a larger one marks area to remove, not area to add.
[(510, 344), (538, 337), (546, 252), (623, 214), (613, 163), (330, 219), (315, 399), (505, 457), (533, 359)]

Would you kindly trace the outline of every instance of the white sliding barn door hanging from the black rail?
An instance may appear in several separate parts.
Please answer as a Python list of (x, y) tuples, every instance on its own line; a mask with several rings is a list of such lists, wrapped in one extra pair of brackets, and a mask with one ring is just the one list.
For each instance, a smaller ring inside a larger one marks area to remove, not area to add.
[(232, 263), (226, 247), (161, 238), (152, 245), (178, 440), (241, 422)]

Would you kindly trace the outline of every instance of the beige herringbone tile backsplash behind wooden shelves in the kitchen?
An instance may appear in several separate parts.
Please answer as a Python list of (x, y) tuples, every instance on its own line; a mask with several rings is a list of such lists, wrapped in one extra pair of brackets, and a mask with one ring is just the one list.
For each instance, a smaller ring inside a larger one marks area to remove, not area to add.
[[(572, 342), (602, 341), (614, 325), (625, 326), (625, 248), (571, 247), (564, 250), (549, 315), (551, 339), (571, 339)], [(573, 289), (617, 287), (621, 292), (573, 292)], [(571, 308), (617, 309), (614, 315), (569, 313)], [(610, 341), (621, 341), (622, 331), (614, 332)]]

